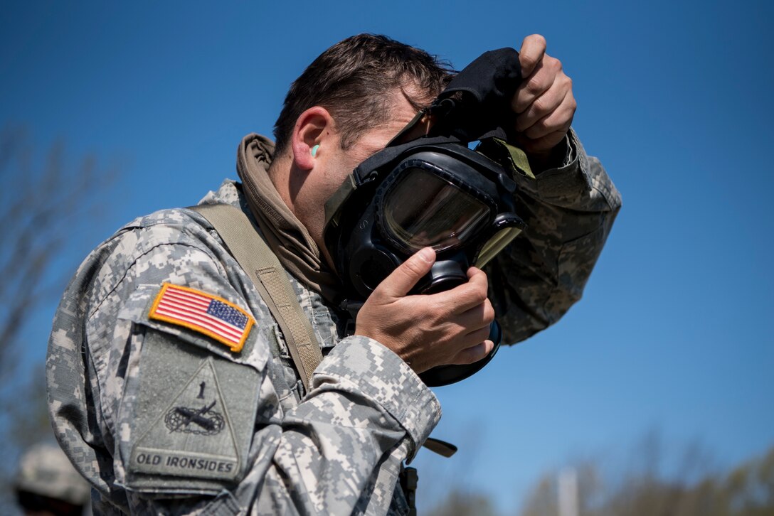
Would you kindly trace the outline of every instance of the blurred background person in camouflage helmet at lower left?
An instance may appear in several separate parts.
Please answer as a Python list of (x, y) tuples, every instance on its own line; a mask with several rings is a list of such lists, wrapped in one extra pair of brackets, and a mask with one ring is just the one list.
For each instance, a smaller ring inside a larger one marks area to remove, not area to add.
[(19, 460), (14, 485), (25, 514), (80, 516), (89, 501), (89, 484), (53, 443), (31, 446)]

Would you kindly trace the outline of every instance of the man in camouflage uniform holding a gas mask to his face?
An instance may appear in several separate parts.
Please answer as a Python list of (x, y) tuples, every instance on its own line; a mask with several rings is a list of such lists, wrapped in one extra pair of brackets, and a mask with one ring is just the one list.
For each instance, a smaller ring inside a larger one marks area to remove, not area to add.
[[(423, 109), (450, 80), (432, 56), (383, 36), (345, 39), (303, 72), (276, 146), (259, 135), (239, 145), (241, 183), (224, 182), (195, 210), (133, 220), (87, 257), (57, 311), (47, 379), (58, 439), (94, 486), (95, 512), (411, 510), (402, 462), (440, 419), (418, 374), (491, 357), (495, 312), (508, 343), (558, 320), (580, 299), (620, 207), (570, 130), (571, 81), (545, 40), (529, 36), (513, 55), (525, 80), (502, 113), (509, 177), (491, 160), (465, 165), (495, 174), (498, 202), (447, 186), (457, 179), (440, 185), (435, 200), (452, 202), (418, 208), (415, 221), (453, 220), (449, 245), (428, 241), (428, 227), (407, 229), (396, 210), (389, 224), (410, 252), (378, 285), (353, 284), (378, 259), (358, 265), (334, 242), (368, 226), (348, 211), (358, 193), (344, 190), (359, 165), (430, 135), (423, 122), (430, 128), (436, 111)], [(447, 162), (449, 173), (464, 168)], [(431, 163), (419, 167), (432, 176)], [(403, 184), (392, 191), (407, 200), (426, 193)], [(514, 203), (523, 221), (501, 208)], [(208, 208), (221, 205), (236, 208), (225, 222)], [(464, 266), (454, 288), (416, 295), (446, 248), (477, 242), (466, 239), (480, 220), (495, 220), (481, 227), (494, 236), (477, 252), (524, 231), (487, 272)], [(362, 289), (372, 290), (362, 306), (344, 299)]]

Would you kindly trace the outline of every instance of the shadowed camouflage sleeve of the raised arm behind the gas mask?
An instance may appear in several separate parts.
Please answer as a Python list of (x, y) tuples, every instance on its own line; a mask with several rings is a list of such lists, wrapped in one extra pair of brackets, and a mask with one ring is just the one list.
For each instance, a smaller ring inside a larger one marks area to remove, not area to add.
[(516, 210), (526, 230), (485, 271), (507, 343), (557, 322), (580, 299), (621, 196), (573, 130), (562, 166), (516, 176)]

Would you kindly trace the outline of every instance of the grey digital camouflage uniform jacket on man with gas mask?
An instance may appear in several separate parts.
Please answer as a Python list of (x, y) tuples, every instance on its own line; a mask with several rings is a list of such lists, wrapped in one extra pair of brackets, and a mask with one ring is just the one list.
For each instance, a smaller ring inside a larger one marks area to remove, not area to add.
[[(511, 342), (580, 297), (620, 206), (574, 136), (566, 166), (522, 188), (526, 238), (488, 271)], [(230, 181), (203, 202), (249, 212)], [(163, 282), (252, 313), (241, 353), (150, 320)], [(95, 513), (406, 514), (399, 470), (440, 419), (437, 399), (396, 354), (346, 337), (347, 321), (291, 282), (326, 356), (309, 393), (203, 217), (141, 217), (87, 257), (54, 320), (47, 381), (57, 438), (94, 486)]]

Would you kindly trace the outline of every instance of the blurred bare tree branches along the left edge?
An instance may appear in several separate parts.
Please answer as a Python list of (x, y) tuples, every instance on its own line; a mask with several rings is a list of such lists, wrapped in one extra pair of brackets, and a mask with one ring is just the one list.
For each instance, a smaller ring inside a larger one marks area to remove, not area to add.
[[(19, 452), (50, 438), (43, 357), (46, 341), (31, 342), (30, 326), (56, 302), (95, 217), (108, 206), (117, 167), (94, 155), (70, 159), (63, 142), (40, 149), (19, 126), (0, 131), (0, 513), (12, 514), (10, 484)], [(46, 323), (50, 322), (50, 314)], [(27, 357), (26, 360), (22, 358)], [(32, 357), (33, 360), (30, 360)]]

